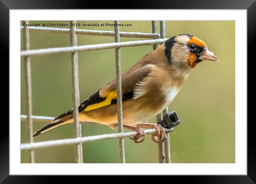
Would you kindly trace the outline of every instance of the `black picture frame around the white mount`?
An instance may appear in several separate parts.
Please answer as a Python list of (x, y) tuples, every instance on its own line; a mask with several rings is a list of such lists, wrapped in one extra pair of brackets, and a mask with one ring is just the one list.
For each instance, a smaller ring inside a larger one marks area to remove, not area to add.
[[(1, 26), (1, 51), (9, 53), (9, 10), (11, 9), (111, 9), (117, 7), (120, 3), (102, 1), (70, 1), (70, 0), (1, 0), (0, 1), (0, 26)], [(121, 7), (122, 9), (123, 7)], [(247, 10), (247, 60), (255, 61), (255, 33), (256, 33), (256, 2), (255, 0), (163, 0), (148, 1), (142, 0), (125, 4), (127, 9), (246, 9)], [(200, 15), (197, 15), (200, 16)], [(18, 43), (19, 41), (17, 41)], [(5, 54), (8, 56), (9, 55)], [(4, 63), (4, 61), (2, 61)], [(240, 61), (243, 62), (243, 61)], [(246, 63), (245, 63), (246, 64)], [(9, 68), (9, 65), (8, 65)], [(248, 78), (249, 80), (249, 78)], [(18, 94), (17, 94), (18, 95)], [(248, 96), (247, 96), (248, 97)], [(10, 98), (10, 96), (9, 96)], [(239, 112), (236, 112), (239, 113)], [(3, 114), (7, 117), (5, 114)], [(245, 117), (246, 119), (247, 117)], [(256, 182), (256, 152), (255, 152), (255, 133), (253, 132), (253, 123), (247, 121), (247, 175), (221, 175), (221, 176), (173, 176), (170, 182), (175, 178), (179, 182), (189, 180), (190, 183), (255, 183)], [(9, 125), (2, 121), (1, 123), (1, 156), (0, 156), (0, 182), (3, 183), (46, 183), (50, 182), (50, 176), (14, 176), (9, 175)], [(125, 177), (126, 178), (126, 177)], [(123, 178), (123, 180), (125, 180)], [(58, 177), (58, 182), (66, 180), (66, 177)], [(151, 177), (151, 182), (156, 177)], [(66, 180), (67, 181), (67, 180)], [(159, 182), (159, 180), (158, 180)], [(51, 182), (50, 182), (51, 183)]]

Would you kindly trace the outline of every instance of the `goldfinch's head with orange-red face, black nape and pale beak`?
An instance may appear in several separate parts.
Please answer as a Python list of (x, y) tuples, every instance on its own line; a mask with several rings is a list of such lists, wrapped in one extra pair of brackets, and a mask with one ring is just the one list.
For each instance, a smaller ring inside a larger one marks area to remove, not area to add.
[(180, 70), (195, 68), (203, 60), (219, 62), (213, 52), (208, 50), (205, 42), (193, 35), (173, 36), (164, 46), (167, 59)]

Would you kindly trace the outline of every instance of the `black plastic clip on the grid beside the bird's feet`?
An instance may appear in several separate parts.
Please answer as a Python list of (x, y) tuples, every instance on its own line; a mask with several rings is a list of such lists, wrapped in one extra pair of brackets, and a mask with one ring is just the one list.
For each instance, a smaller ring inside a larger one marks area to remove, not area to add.
[(173, 128), (178, 126), (181, 121), (175, 111), (169, 112), (163, 116), (163, 119), (157, 123), (160, 124), (163, 128)]

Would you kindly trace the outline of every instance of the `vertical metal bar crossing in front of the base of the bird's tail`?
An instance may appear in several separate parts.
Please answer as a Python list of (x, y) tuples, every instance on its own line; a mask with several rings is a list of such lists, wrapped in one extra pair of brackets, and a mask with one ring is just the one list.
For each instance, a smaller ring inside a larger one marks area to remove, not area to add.
[[(75, 21), (70, 21), (70, 45), (75, 46)], [(77, 52), (71, 53), (72, 62), (72, 88), (73, 88), (73, 119), (75, 137), (78, 138), (81, 135), (81, 126), (78, 121), (78, 67), (77, 67)], [(75, 162), (82, 163), (82, 144), (75, 144)]]

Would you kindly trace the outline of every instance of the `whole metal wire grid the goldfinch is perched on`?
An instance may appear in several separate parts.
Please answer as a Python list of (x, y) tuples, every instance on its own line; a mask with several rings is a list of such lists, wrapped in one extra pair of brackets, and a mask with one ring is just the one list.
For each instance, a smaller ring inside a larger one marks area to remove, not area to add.
[[(28, 24), (29, 21), (23, 21)], [(27, 97), (27, 113), (28, 115), (21, 115), (21, 121), (27, 122), (29, 143), (21, 144), (21, 150), (29, 150), (29, 163), (34, 163), (34, 149), (54, 147), (58, 145), (75, 144), (75, 162), (83, 163), (82, 143), (90, 142), (94, 140), (104, 139), (116, 139), (119, 138), (119, 153), (120, 163), (125, 163), (124, 155), (124, 137), (136, 136), (137, 132), (123, 132), (123, 117), (122, 117), (122, 94), (121, 94), (121, 65), (120, 65), (120, 47), (131, 47), (140, 45), (153, 45), (153, 50), (157, 48), (157, 44), (162, 44), (167, 39), (165, 38), (165, 22), (160, 21), (160, 35), (157, 33), (156, 21), (152, 21), (152, 34), (142, 32), (119, 32), (119, 26), (115, 26), (114, 31), (98, 31), (98, 30), (79, 30), (75, 26), (76, 21), (70, 21), (70, 29), (52, 28), (52, 27), (26, 27), (21, 26), (23, 29), (24, 37), (24, 51), (21, 51), (21, 57), (24, 57), (25, 63), (25, 84), (26, 84), (26, 97)], [(119, 24), (119, 21), (114, 21), (114, 24)], [(70, 34), (70, 47), (57, 47), (57, 48), (44, 48), (30, 50), (30, 31), (43, 31), (53, 32), (61, 34)], [(101, 36), (114, 36), (115, 42), (108, 44), (95, 44), (95, 45), (83, 45), (77, 46), (77, 34), (80, 35), (101, 35)], [(139, 40), (139, 41), (127, 41), (120, 42), (120, 37), (135, 37), (135, 38), (152, 38), (153, 40)], [(160, 38), (159, 38), (160, 37)], [(78, 103), (79, 100), (79, 85), (78, 85), (78, 51), (89, 50), (101, 50), (107, 48), (115, 48), (115, 63), (116, 63), (116, 78), (117, 78), (117, 106), (118, 106), (118, 132), (114, 134), (102, 134), (97, 136), (82, 137), (81, 123), (90, 122), (78, 122)], [(31, 88), (31, 67), (30, 56), (34, 55), (47, 55), (60, 52), (70, 52), (72, 62), (72, 88), (73, 88), (73, 117), (74, 117), (74, 131), (75, 138), (48, 140), (42, 142), (33, 142), (33, 121), (52, 121), (53, 117), (45, 116), (33, 116), (32, 114), (32, 88)], [(168, 113), (168, 107), (164, 109), (163, 114)], [(161, 114), (157, 115), (157, 122), (161, 121)], [(167, 133), (167, 140), (163, 143), (158, 143), (158, 155), (159, 163), (171, 163), (171, 150), (169, 141), (169, 132), (173, 131), (173, 128), (164, 128)], [(145, 130), (146, 134), (156, 133), (156, 129)], [(161, 136), (158, 137), (161, 139)], [(165, 153), (164, 153), (165, 151)]]

